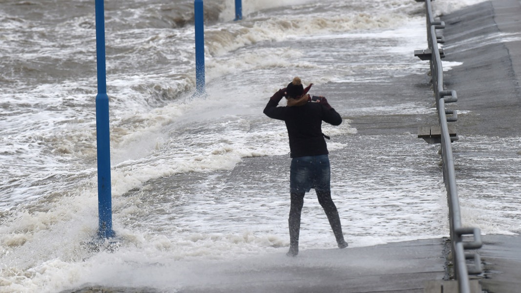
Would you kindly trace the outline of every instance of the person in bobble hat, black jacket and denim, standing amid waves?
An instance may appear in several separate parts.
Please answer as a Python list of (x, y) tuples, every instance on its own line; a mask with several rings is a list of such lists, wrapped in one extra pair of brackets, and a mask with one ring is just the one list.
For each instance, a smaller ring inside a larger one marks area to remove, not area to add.
[[(288, 219), (290, 232), (290, 257), (299, 254), (299, 233), (304, 194), (311, 188), (317, 193), (318, 202), (327, 215), (339, 248), (348, 247), (342, 234), (342, 226), (337, 207), (331, 199), (330, 165), (322, 121), (340, 125), (342, 117), (334, 111), (325, 97), (309, 97), (299, 77), (295, 77), (284, 89), (270, 97), (264, 114), (270, 118), (284, 120), (288, 129), (290, 144), (290, 197), (291, 206)], [(282, 97), (287, 106), (278, 107)], [(329, 138), (328, 138), (329, 139)]]

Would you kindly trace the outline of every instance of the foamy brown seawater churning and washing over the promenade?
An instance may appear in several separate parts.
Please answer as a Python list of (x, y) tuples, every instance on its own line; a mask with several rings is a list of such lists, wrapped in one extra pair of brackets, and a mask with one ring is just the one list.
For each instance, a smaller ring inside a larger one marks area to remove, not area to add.
[[(434, 4), (446, 13), (476, 2)], [(107, 2), (113, 219), (121, 240), (109, 253), (82, 244), (97, 231), (94, 2), (0, 3), (1, 292), (88, 283), (172, 290), (190, 283), (198, 262), (282, 256), (287, 133), (262, 110), (293, 76), (313, 82), (312, 93), (326, 95), (344, 118), (324, 130), (350, 245), (448, 235), (438, 146), (393, 126), (364, 134), (351, 119), (434, 113), (432, 99), (374, 94), (426, 75), (428, 64), (413, 56), (426, 47), (423, 4), (249, 0), (234, 22), (232, 0), (206, 1), (207, 96), (196, 97), (193, 2)], [(519, 142), (454, 144), (464, 224), (518, 231)], [(302, 218), (301, 249), (336, 246), (313, 193)]]

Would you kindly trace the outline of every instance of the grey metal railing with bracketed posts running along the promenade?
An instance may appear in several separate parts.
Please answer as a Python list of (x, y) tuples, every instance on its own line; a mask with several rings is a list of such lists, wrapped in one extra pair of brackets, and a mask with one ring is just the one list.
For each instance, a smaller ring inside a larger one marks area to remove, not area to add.
[[(456, 176), (454, 172), (454, 158), (451, 142), (457, 140), (450, 136), (448, 122), (457, 120), (455, 110), (446, 109), (445, 104), (457, 101), (456, 91), (445, 90), (443, 87), (443, 67), (441, 58), (444, 52), (438, 47), (443, 43), (443, 36), (437, 36), (436, 30), (445, 28), (443, 21), (435, 20), (432, 14), (431, 0), (416, 0), (425, 2), (427, 11), (427, 40), (428, 49), (415, 51), (415, 55), (422, 60), (430, 60), (433, 90), (436, 97), (436, 108), (441, 128), (441, 155), (443, 167), (443, 180), (447, 191), (449, 204), (449, 221), (452, 258), (454, 262), (454, 277), (458, 282), (460, 293), (470, 293), (469, 274), (482, 272), (481, 260), (478, 253), (465, 252), (466, 249), (478, 249), (482, 246), (481, 232), (479, 228), (463, 227), (461, 223), (460, 202), (457, 195)], [(450, 115), (450, 116), (447, 116)], [(464, 241), (464, 236), (472, 235), (472, 241)], [(467, 260), (473, 260), (474, 265), (467, 267)]]

